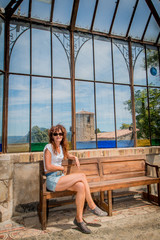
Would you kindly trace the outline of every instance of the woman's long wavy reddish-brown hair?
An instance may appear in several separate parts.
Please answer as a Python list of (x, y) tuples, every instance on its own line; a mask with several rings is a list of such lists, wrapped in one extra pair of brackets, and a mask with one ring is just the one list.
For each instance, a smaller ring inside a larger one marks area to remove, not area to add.
[(61, 132), (63, 133), (63, 137), (62, 137), (62, 141), (61, 141), (61, 146), (63, 149), (63, 154), (64, 154), (64, 159), (67, 159), (67, 155), (68, 155), (68, 141), (67, 141), (67, 131), (65, 129), (65, 127), (61, 124), (58, 124), (56, 126), (52, 126), (49, 130), (48, 130), (48, 135), (49, 135), (49, 142), (52, 144), (53, 146), (53, 150), (54, 153), (57, 154), (57, 148), (56, 148), (56, 144), (54, 142), (54, 138), (53, 138), (53, 133), (58, 132), (59, 130), (61, 130)]

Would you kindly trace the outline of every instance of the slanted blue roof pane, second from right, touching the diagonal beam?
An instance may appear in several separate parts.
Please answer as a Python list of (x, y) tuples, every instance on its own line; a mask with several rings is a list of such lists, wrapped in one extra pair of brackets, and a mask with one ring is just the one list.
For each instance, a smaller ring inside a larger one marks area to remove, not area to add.
[[(143, 11), (143, 14), (142, 14), (142, 11)], [(147, 3), (145, 2), (145, 0), (139, 1), (134, 18), (133, 18), (131, 29), (129, 31), (129, 36), (136, 39), (142, 38), (142, 34), (147, 24), (149, 14), (150, 14), (150, 9)]]

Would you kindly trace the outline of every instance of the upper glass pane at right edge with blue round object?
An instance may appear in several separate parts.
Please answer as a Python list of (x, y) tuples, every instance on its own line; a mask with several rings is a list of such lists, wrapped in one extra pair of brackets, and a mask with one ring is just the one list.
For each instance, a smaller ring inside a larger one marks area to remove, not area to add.
[(148, 84), (160, 86), (159, 55), (158, 49), (147, 47)]

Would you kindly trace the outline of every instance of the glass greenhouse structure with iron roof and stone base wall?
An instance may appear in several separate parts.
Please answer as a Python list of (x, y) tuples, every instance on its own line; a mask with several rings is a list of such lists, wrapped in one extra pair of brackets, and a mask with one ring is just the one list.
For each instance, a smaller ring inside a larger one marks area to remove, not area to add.
[(52, 125), (79, 157), (158, 159), (160, 1), (0, 0), (0, 115), (2, 220), (38, 201)]

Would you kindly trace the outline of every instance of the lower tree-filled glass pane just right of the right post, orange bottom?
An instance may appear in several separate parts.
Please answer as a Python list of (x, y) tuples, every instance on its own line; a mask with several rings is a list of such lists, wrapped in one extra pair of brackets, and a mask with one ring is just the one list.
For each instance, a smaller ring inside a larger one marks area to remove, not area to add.
[(150, 146), (147, 88), (135, 87), (135, 112), (137, 128), (137, 146)]

